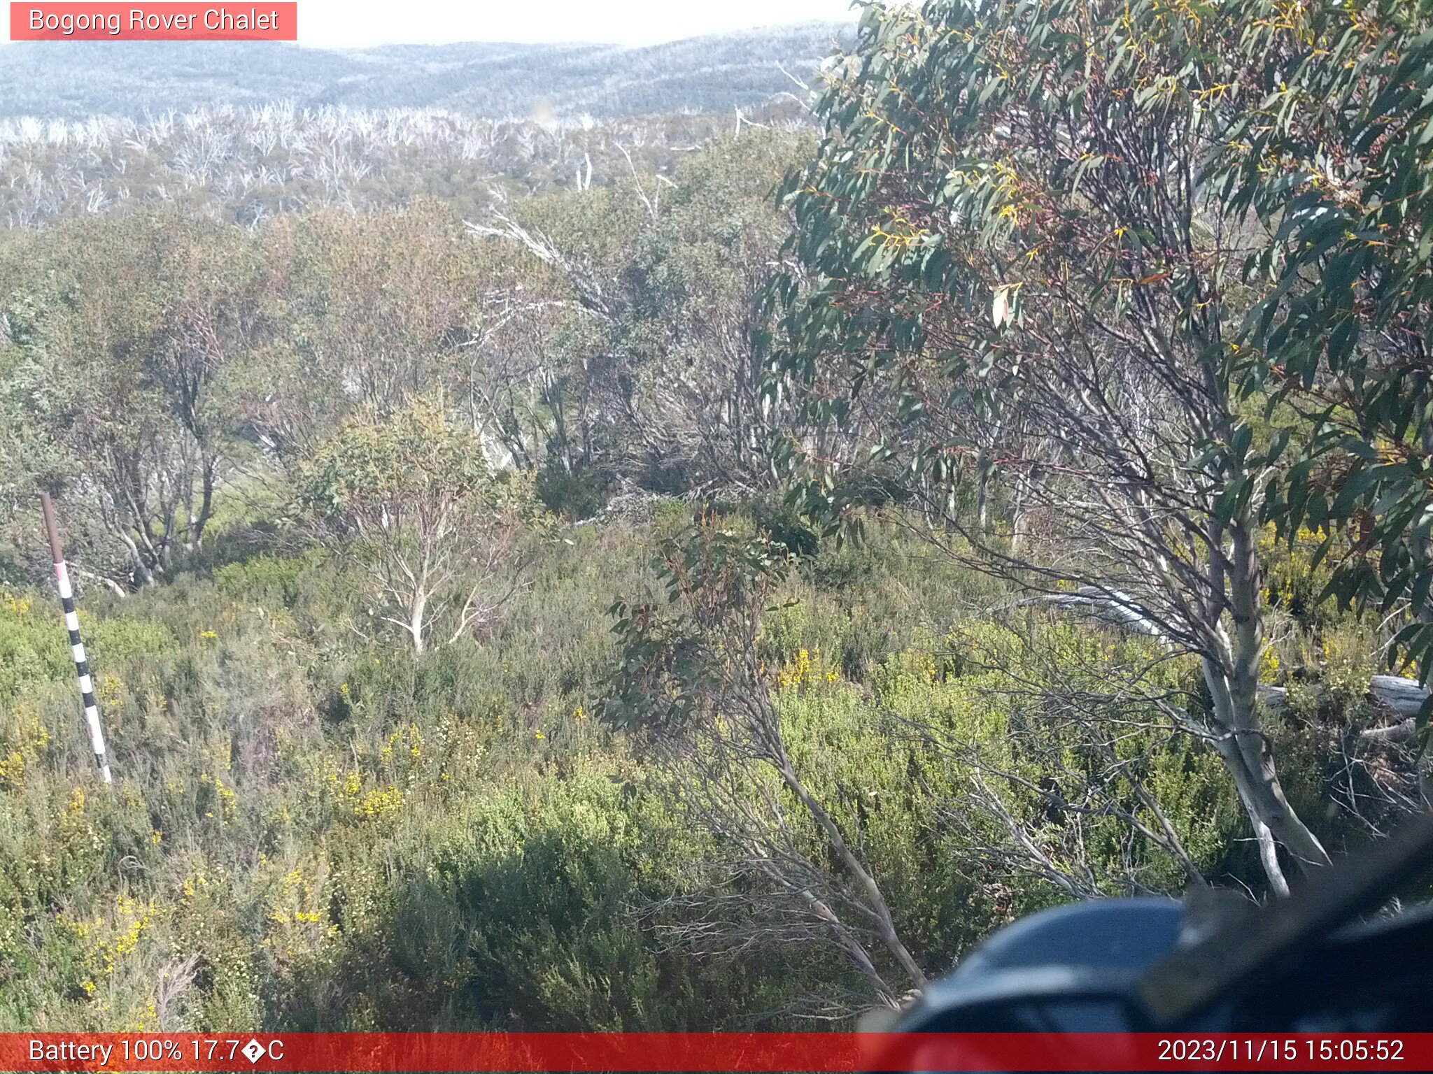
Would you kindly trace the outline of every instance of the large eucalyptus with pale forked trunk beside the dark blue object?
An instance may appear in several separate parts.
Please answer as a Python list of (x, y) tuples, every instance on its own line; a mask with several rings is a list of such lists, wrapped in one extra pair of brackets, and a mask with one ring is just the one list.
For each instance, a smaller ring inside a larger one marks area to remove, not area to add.
[[(868, 6), (785, 188), (805, 271), (771, 289), (771, 391), (802, 402), (813, 516), (910, 500), (953, 554), (963, 533), (980, 566), (1195, 656), (1207, 700), (1151, 700), (1218, 750), (1285, 891), (1280, 846), (1328, 861), (1258, 707), (1288, 430), (1238, 391), (1251, 239), (1204, 179), (1252, 7)], [(983, 528), (962, 495), (987, 483), (1005, 524)]]

